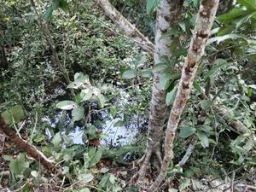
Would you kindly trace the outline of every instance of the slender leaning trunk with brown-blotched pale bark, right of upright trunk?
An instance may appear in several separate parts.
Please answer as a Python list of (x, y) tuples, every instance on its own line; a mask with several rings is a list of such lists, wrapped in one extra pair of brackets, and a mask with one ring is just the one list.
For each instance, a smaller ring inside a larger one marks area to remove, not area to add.
[(183, 108), (188, 100), (201, 56), (204, 54), (204, 49), (210, 35), (217, 9), (218, 0), (201, 0), (201, 6), (195, 24), (195, 31), (185, 65), (183, 66), (182, 77), (178, 84), (177, 96), (168, 120), (165, 139), (165, 157), (162, 162), (160, 174), (150, 186), (148, 192), (157, 191), (160, 183), (162, 183), (166, 177), (168, 166), (173, 158), (173, 141), (176, 135), (177, 125), (183, 113)]

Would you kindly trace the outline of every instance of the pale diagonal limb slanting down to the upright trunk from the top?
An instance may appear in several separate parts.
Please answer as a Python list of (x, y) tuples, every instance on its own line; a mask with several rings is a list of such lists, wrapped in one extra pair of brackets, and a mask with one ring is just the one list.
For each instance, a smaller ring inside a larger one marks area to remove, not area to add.
[(154, 55), (154, 44), (139, 32), (135, 26), (126, 20), (125, 17), (108, 2), (108, 0), (96, 0), (96, 3), (103, 10), (104, 14), (123, 30), (128, 38), (135, 40), (138, 45), (143, 50), (148, 51), (150, 55)]

